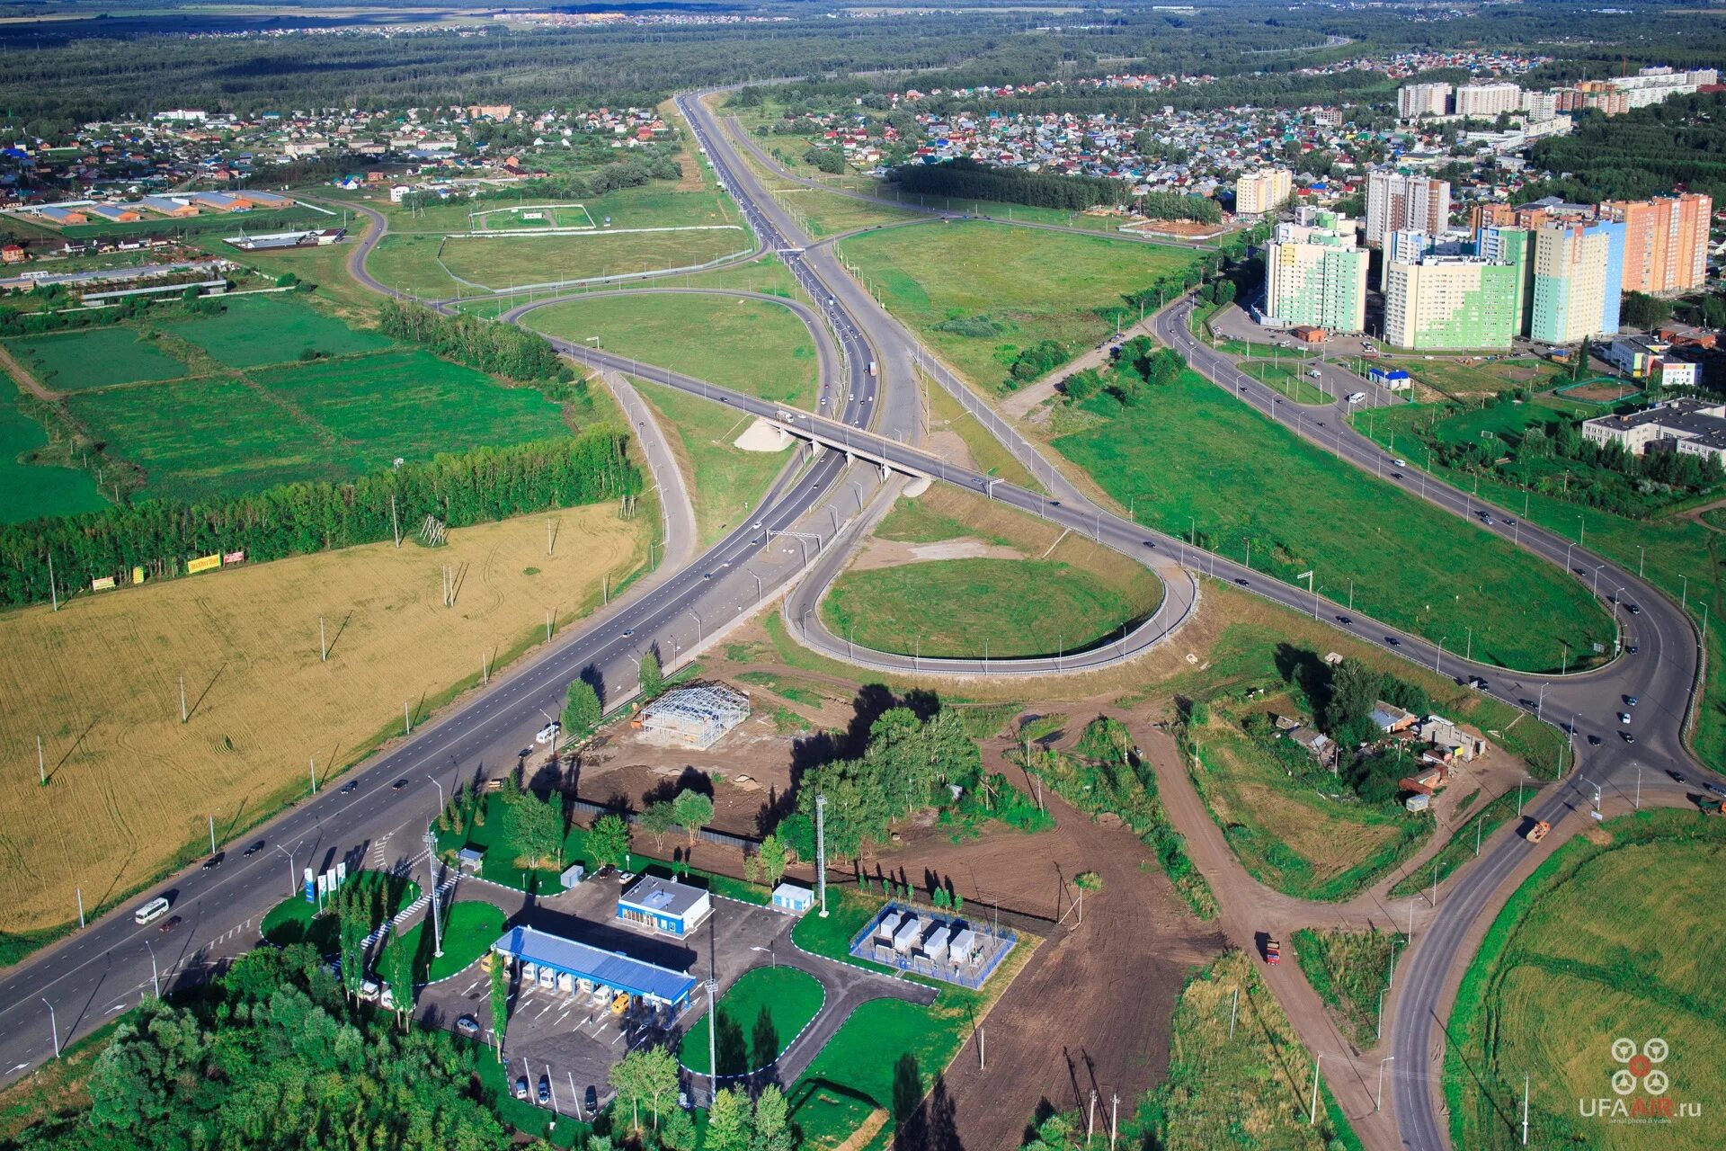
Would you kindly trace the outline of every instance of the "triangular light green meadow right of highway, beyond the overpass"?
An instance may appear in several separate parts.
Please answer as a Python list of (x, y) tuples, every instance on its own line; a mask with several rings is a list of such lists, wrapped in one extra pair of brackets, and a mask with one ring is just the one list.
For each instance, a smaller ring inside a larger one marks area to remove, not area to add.
[[(984, 221), (884, 228), (839, 247), (887, 311), (984, 388), (999, 388), (1013, 355), (1039, 340), (1060, 340), (1068, 355), (1106, 340), (1115, 324), (1101, 309), (1125, 307), (1125, 293), (1194, 259), (1186, 248)], [(941, 328), (979, 318), (996, 331)]]

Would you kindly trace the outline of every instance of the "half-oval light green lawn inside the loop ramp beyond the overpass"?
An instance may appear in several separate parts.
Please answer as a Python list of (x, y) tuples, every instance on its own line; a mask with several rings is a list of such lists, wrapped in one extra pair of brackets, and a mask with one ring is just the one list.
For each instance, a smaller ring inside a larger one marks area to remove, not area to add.
[(528, 312), (545, 335), (599, 336), (614, 355), (758, 395), (815, 407), (815, 340), (797, 314), (766, 300), (723, 295), (618, 295)]

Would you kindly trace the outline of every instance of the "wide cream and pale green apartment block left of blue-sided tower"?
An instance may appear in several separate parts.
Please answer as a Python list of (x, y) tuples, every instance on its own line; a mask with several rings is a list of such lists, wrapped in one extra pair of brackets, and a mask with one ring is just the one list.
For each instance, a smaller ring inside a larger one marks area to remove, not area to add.
[(1472, 255), (1389, 264), (1384, 340), (1414, 350), (1509, 349), (1517, 333), (1521, 274)]

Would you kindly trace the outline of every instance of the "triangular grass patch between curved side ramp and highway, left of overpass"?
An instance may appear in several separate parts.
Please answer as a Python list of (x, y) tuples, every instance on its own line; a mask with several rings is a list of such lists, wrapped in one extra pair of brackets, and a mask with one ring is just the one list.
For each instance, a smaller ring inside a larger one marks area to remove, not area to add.
[(642, 399), (675, 431), (673, 450), (696, 506), (696, 535), (702, 547), (725, 535), (761, 502), (761, 495), (791, 459), (791, 450), (746, 452), (734, 440), (749, 426), (735, 409), (665, 385), (635, 381)]

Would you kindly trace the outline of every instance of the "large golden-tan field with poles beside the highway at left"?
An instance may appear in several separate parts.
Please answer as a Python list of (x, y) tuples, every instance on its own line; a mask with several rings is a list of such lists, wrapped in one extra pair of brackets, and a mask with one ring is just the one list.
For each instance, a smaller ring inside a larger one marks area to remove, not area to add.
[[(330, 780), (599, 602), (647, 556), (652, 518), (613, 507), (450, 531), (444, 549), (390, 544), (281, 559), (0, 616), (0, 932), (60, 925), (81, 885), (91, 911)], [(457, 573), (442, 606), (442, 568)], [(318, 621), (330, 642), (319, 661)], [(185, 676), (188, 723), (180, 721)], [(91, 685), (100, 685), (93, 690)]]

